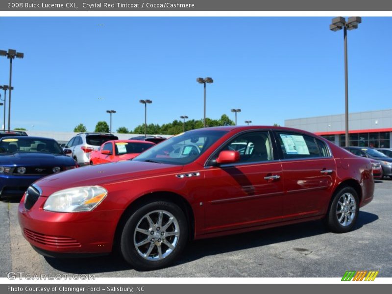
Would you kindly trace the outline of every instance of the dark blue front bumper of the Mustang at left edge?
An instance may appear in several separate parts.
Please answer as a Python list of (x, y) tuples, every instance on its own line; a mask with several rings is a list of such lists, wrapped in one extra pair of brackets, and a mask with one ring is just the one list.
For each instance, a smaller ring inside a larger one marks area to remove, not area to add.
[(28, 186), (45, 175), (0, 175), (0, 196), (22, 196)]

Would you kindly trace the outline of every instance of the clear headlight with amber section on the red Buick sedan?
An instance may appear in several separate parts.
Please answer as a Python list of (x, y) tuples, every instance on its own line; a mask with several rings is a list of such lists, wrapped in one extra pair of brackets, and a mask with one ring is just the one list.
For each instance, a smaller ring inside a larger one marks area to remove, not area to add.
[(91, 211), (106, 197), (107, 190), (100, 186), (75, 187), (57, 191), (45, 202), (44, 210), (54, 212)]

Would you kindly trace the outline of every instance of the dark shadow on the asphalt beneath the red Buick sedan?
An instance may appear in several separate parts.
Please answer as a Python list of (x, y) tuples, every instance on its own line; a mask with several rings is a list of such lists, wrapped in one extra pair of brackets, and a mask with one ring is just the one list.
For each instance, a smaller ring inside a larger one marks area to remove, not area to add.
[[(360, 211), (353, 230), (358, 230), (376, 220), (378, 220), (377, 215)], [(329, 231), (322, 221), (310, 221), (250, 233), (198, 240), (188, 244), (182, 257), (174, 265), (185, 264), (208, 255), (223, 254), (326, 233)], [(99, 273), (132, 269), (119, 253), (91, 258), (56, 259), (45, 257), (45, 259), (54, 269), (70, 273)]]

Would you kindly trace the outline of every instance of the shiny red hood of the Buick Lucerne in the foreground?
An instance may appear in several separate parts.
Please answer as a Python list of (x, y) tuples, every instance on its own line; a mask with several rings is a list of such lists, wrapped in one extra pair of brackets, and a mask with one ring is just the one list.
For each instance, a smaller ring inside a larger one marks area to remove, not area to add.
[(120, 182), (125, 179), (177, 172), (183, 166), (142, 161), (119, 161), (49, 175), (35, 182), (42, 190), (42, 196), (72, 187), (100, 185)]

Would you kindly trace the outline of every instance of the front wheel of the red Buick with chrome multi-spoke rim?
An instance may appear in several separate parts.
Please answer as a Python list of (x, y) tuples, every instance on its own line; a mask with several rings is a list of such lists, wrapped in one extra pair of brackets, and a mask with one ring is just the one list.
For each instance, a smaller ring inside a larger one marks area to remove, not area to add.
[(137, 209), (125, 222), (120, 248), (136, 270), (156, 270), (178, 258), (188, 240), (188, 224), (181, 208), (153, 201)]

